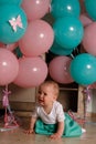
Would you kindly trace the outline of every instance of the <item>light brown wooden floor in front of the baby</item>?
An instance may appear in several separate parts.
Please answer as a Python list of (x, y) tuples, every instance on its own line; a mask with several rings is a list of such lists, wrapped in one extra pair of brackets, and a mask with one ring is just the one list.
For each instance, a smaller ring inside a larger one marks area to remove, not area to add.
[(86, 133), (81, 137), (68, 137), (61, 140), (50, 140), (45, 135), (26, 135), (23, 133), (26, 124), (13, 131), (0, 132), (0, 144), (95, 144), (96, 143), (96, 121), (87, 121), (85, 124)]

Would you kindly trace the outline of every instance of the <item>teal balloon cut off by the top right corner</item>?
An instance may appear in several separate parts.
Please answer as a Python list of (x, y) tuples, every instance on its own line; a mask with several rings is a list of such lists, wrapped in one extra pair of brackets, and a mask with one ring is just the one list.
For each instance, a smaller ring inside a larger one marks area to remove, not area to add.
[(88, 16), (96, 21), (96, 0), (84, 0), (84, 6)]

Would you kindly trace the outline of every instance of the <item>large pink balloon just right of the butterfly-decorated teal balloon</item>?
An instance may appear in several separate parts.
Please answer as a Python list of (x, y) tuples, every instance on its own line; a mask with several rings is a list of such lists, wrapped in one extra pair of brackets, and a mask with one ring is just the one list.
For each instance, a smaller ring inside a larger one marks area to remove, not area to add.
[(52, 27), (43, 20), (35, 20), (29, 23), (24, 37), (19, 41), (19, 47), (24, 55), (38, 56), (51, 48), (53, 40)]

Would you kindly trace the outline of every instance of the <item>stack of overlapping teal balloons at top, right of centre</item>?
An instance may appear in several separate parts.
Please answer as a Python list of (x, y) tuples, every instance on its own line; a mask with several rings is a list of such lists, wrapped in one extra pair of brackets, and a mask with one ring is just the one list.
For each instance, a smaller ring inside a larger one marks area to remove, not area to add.
[[(65, 52), (65, 55), (71, 54), (81, 43), (84, 34), (83, 24), (78, 19), (81, 13), (79, 1), (52, 0), (51, 13), (55, 19), (53, 23), (54, 43), (60, 45), (61, 55), (62, 51)], [(51, 51), (56, 53), (54, 44)]]

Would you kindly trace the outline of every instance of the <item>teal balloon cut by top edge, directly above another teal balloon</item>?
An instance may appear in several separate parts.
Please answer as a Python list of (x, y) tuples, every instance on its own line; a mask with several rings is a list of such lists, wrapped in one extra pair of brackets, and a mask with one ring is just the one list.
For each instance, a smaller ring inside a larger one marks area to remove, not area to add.
[(52, 0), (51, 13), (56, 19), (65, 16), (79, 17), (81, 6), (78, 0)]

